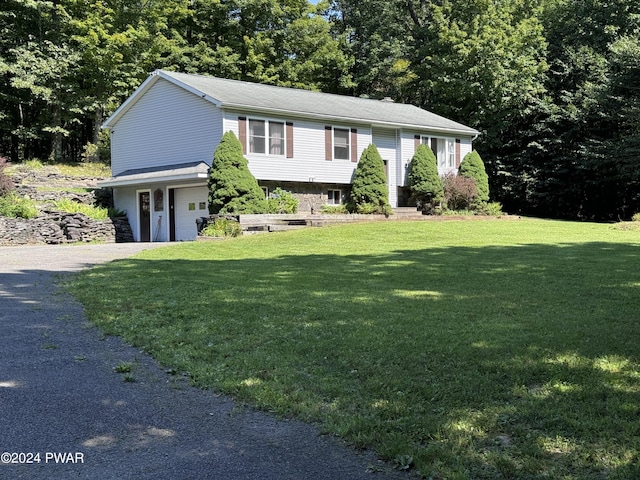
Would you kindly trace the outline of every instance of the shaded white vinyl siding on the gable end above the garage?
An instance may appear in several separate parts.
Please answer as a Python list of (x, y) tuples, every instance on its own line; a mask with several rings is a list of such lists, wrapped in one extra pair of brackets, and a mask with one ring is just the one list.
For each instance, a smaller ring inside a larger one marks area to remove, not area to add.
[(222, 114), (212, 103), (159, 80), (111, 132), (112, 172), (195, 161), (211, 164), (222, 137)]

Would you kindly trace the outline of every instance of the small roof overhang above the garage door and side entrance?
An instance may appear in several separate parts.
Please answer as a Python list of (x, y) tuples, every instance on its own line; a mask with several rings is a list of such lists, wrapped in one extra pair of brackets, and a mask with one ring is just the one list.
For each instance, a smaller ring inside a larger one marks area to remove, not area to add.
[(183, 182), (188, 180), (206, 180), (209, 177), (209, 165), (205, 162), (181, 163), (162, 167), (126, 170), (106, 180), (98, 182), (99, 187), (129, 187), (148, 185), (158, 182)]

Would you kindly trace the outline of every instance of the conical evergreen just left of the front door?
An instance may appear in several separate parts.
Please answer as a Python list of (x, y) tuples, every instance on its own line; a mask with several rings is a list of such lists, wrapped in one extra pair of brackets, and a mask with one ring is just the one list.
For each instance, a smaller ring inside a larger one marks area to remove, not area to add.
[(391, 213), (384, 162), (373, 144), (365, 148), (360, 156), (350, 198), (355, 213)]

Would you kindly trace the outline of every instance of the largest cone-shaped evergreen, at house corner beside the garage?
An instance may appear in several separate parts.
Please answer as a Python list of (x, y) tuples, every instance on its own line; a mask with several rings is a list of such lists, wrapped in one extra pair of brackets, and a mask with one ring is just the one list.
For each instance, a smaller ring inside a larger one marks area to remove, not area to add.
[(232, 131), (216, 147), (209, 175), (209, 212), (265, 213), (264, 192), (249, 171), (242, 145)]

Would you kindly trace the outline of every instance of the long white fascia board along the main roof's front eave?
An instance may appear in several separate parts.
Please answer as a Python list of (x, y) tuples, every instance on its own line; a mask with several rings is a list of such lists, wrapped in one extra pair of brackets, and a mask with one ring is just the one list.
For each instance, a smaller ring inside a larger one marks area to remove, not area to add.
[(432, 132), (440, 132), (440, 133), (450, 133), (452, 135), (466, 135), (469, 137), (478, 136), (480, 132), (473, 128), (468, 129), (451, 129), (451, 128), (443, 128), (443, 127), (428, 127), (425, 125), (416, 125), (411, 123), (394, 123), (394, 122), (384, 122), (384, 121), (371, 121), (359, 119), (356, 117), (345, 117), (339, 115), (322, 115), (317, 113), (308, 113), (301, 112), (291, 109), (276, 109), (276, 108), (260, 108), (254, 105), (240, 105), (240, 104), (229, 104), (223, 103), (222, 107), (226, 110), (232, 110), (238, 113), (247, 113), (247, 112), (256, 112), (263, 114), (273, 114), (273, 115), (285, 115), (285, 116), (293, 116), (304, 119), (312, 119), (312, 120), (322, 120), (333, 123), (349, 123), (349, 124), (358, 124), (358, 125), (369, 125), (372, 127), (391, 127), (391, 128), (404, 128), (404, 129), (416, 129), (416, 130), (428, 130)]

